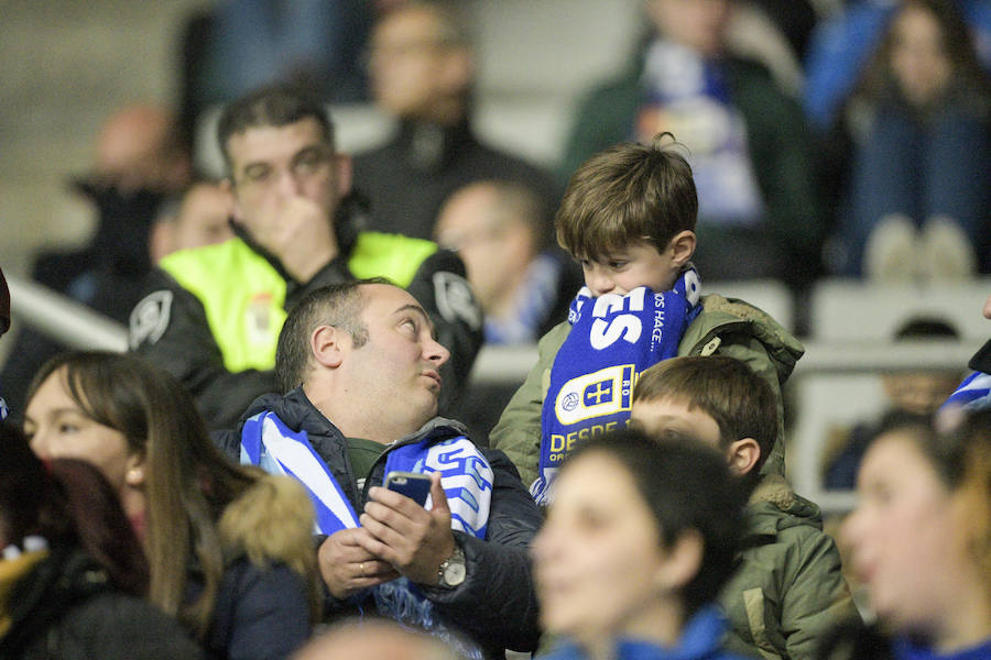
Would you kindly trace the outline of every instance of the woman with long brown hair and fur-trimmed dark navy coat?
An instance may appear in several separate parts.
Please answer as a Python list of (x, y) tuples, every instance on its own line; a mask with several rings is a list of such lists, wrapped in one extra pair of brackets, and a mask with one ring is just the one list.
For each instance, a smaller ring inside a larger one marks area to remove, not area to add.
[(35, 375), (24, 427), (42, 458), (104, 472), (148, 553), (152, 602), (213, 653), (280, 658), (307, 638), (317, 612), (308, 497), (230, 463), (172, 376), (129, 355), (55, 358)]

